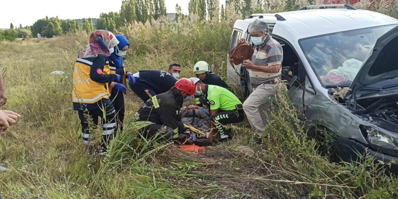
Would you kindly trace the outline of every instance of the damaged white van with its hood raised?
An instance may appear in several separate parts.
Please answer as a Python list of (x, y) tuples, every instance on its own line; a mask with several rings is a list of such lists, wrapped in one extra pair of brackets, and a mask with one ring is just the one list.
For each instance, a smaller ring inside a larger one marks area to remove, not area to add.
[[(235, 22), (230, 49), (240, 38), (250, 41), (248, 25), (256, 19), (266, 21), (282, 45), (282, 75), (295, 107), (305, 111), (310, 136), (338, 135), (334, 148), (343, 160), (368, 148), (377, 160), (398, 162), (398, 20), (345, 4), (252, 14)], [(250, 94), (247, 69), (227, 64), (230, 84)], [(351, 91), (331, 100), (338, 87)]]

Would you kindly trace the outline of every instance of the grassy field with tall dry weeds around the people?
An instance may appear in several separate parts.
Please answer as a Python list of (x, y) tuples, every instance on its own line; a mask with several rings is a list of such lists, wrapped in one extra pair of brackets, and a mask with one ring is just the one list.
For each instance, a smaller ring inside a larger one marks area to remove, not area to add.
[[(233, 21), (123, 27), (119, 32), (132, 43), (127, 69), (166, 69), (179, 62), (189, 77), (193, 64), (206, 60), (225, 77)], [(252, 132), (244, 122), (233, 127), (232, 142), (189, 155), (170, 144), (148, 147), (137, 137), (132, 121), (141, 101), (129, 90), (124, 133), (108, 156), (89, 154), (70, 99), (74, 60), (87, 38), (79, 32), (0, 43), (9, 98), (2, 109), (22, 115), (0, 137), (0, 164), (11, 169), (0, 173), (4, 199), (398, 197), (398, 179), (384, 175), (371, 157), (352, 166), (320, 156), (316, 143), (292, 123), (296, 111), (283, 92), (278, 98), (284, 108), (274, 113), (267, 126), (273, 136), (263, 144), (250, 142)], [(65, 74), (51, 75), (53, 70)]]

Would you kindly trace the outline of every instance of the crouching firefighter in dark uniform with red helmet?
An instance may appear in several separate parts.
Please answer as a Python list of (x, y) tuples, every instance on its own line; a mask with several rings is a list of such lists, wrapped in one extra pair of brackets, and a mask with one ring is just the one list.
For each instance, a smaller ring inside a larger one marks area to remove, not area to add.
[(191, 80), (181, 78), (169, 91), (146, 101), (138, 111), (137, 120), (150, 124), (142, 129), (143, 136), (152, 138), (159, 135), (165, 140), (184, 137), (185, 128), (181, 123), (179, 111), (183, 101), (195, 94), (195, 90), (196, 86)]

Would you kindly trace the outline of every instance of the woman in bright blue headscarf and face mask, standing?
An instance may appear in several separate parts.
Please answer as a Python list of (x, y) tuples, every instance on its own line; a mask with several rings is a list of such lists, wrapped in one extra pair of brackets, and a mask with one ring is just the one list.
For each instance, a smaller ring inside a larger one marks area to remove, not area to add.
[[(126, 92), (126, 79), (129, 82), (135, 83), (135, 78), (131, 72), (126, 72), (126, 69), (123, 64), (123, 60), (125, 60), (125, 56), (127, 50), (130, 47), (129, 41), (127, 41), (126, 37), (123, 35), (115, 35), (116, 39), (119, 41), (119, 44), (114, 47), (113, 53), (111, 53), (109, 66), (111, 70), (116, 70), (116, 74), (121, 76), (120, 80), (117, 82), (119, 84), (123, 84), (123, 89), (112, 89), (110, 100), (113, 103), (113, 106), (116, 109), (117, 119), (119, 121), (119, 129), (123, 131), (123, 120), (125, 115), (125, 103), (124, 103), (124, 95), (123, 93)], [(132, 84), (134, 84), (132, 83)]]

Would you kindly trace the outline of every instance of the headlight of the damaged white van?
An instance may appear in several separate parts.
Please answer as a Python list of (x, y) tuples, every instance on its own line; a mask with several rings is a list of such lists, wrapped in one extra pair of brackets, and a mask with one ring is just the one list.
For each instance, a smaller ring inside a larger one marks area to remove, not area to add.
[(367, 126), (363, 127), (363, 135), (375, 148), (388, 154), (398, 155), (398, 135)]

